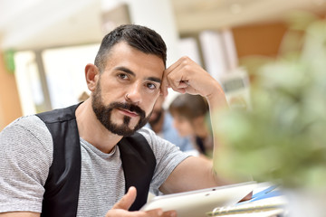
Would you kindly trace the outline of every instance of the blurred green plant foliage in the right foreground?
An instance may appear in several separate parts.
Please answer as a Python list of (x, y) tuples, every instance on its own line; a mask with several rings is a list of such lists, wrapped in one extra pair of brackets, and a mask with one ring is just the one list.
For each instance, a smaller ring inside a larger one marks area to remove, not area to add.
[(216, 119), (225, 143), (216, 171), (325, 189), (326, 21), (301, 12), (289, 26), (276, 60), (242, 61), (252, 78), (253, 109), (227, 110)]

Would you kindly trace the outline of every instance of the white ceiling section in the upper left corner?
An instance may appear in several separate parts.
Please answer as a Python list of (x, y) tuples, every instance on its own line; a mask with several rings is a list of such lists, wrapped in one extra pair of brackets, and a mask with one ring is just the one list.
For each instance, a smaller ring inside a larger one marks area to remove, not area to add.
[(0, 5), (5, 49), (101, 42), (101, 0), (0, 0)]

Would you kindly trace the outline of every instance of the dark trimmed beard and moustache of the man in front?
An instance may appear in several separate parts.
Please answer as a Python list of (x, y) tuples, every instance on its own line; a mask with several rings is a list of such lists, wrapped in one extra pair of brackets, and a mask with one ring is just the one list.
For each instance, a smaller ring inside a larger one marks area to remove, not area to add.
[[(145, 111), (140, 109), (138, 106), (130, 103), (112, 102), (109, 106), (103, 105), (101, 102), (101, 88), (98, 86), (94, 91), (93, 98), (91, 99), (91, 107), (101, 122), (101, 124), (106, 127), (110, 132), (117, 134), (119, 136), (128, 137), (134, 134), (139, 128), (144, 127), (149, 120), (145, 115)], [(123, 118), (123, 124), (118, 125), (113, 123), (110, 118), (112, 114), (112, 109), (127, 109), (132, 112), (136, 112), (139, 115), (139, 123), (131, 129), (129, 127), (130, 117), (125, 116)]]

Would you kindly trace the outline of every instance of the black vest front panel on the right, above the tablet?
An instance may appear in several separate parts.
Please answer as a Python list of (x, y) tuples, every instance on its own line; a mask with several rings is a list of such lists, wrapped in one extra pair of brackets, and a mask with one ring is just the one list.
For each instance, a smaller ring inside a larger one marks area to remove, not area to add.
[(147, 139), (139, 133), (123, 137), (118, 145), (126, 180), (126, 192), (130, 186), (137, 189), (136, 201), (129, 211), (137, 211), (147, 202), (156, 158)]

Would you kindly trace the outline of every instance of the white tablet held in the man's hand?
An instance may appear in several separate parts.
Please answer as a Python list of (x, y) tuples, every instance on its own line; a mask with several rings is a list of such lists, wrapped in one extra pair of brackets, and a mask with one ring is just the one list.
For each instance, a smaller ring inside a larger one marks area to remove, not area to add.
[(239, 202), (251, 193), (256, 185), (255, 182), (248, 182), (156, 196), (140, 210), (161, 208), (163, 211), (177, 211), (177, 217), (206, 217), (206, 212), (212, 212), (216, 207)]

